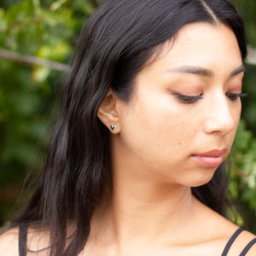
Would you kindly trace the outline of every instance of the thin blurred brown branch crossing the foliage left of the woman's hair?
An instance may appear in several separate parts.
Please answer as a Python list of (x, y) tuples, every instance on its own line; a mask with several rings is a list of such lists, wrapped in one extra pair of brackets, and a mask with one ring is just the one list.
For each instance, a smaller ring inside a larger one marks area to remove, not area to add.
[(39, 65), (39, 66), (50, 67), (52, 69), (56, 69), (62, 72), (68, 72), (70, 69), (68, 65), (63, 64), (61, 62), (49, 61), (43, 58), (38, 58), (30, 55), (20, 55), (13, 51), (9, 51), (7, 49), (1, 49), (1, 48), (0, 48), (0, 58), (9, 59), (11, 61), (16, 61), (26, 65)]

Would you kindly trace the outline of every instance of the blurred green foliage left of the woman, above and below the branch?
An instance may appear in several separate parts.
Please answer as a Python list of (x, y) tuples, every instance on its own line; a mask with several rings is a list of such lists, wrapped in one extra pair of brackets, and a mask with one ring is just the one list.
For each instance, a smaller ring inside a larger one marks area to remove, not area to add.
[[(0, 9), (0, 48), (68, 63), (93, 9), (84, 0), (26, 0)], [(0, 62), (0, 225), (26, 172), (36, 173), (42, 164), (49, 138), (47, 120), (52, 109), (57, 112), (53, 102), (63, 76), (49, 67)]]

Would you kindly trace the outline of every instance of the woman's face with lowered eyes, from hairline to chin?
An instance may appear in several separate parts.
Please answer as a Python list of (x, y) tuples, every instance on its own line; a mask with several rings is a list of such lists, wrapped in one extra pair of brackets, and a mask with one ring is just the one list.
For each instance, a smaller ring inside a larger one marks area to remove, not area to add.
[(184, 26), (121, 104), (120, 161), (167, 183), (207, 183), (235, 137), (243, 71), (228, 26)]

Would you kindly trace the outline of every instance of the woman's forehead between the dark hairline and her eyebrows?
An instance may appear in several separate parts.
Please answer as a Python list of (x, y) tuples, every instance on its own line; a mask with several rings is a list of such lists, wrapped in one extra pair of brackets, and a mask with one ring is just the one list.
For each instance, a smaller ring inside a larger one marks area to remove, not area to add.
[(218, 71), (233, 70), (241, 64), (236, 36), (229, 26), (197, 22), (183, 26), (174, 38), (163, 44), (149, 66), (191, 65)]

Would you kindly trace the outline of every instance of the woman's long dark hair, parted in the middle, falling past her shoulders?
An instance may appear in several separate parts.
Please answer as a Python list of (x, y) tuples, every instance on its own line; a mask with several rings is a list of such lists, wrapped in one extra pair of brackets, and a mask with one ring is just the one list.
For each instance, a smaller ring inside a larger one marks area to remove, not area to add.
[[(86, 22), (73, 66), (61, 92), (61, 113), (49, 142), (38, 187), (13, 225), (38, 224), (50, 230), (50, 255), (78, 255), (90, 234), (90, 219), (106, 186), (111, 188), (109, 131), (97, 118), (111, 88), (129, 101), (132, 81), (156, 49), (186, 24), (223, 22), (236, 34), (242, 59), (244, 26), (226, 0), (106, 0)], [(193, 194), (216, 212), (225, 212), (224, 172)], [(75, 230), (67, 239), (67, 221)]]

